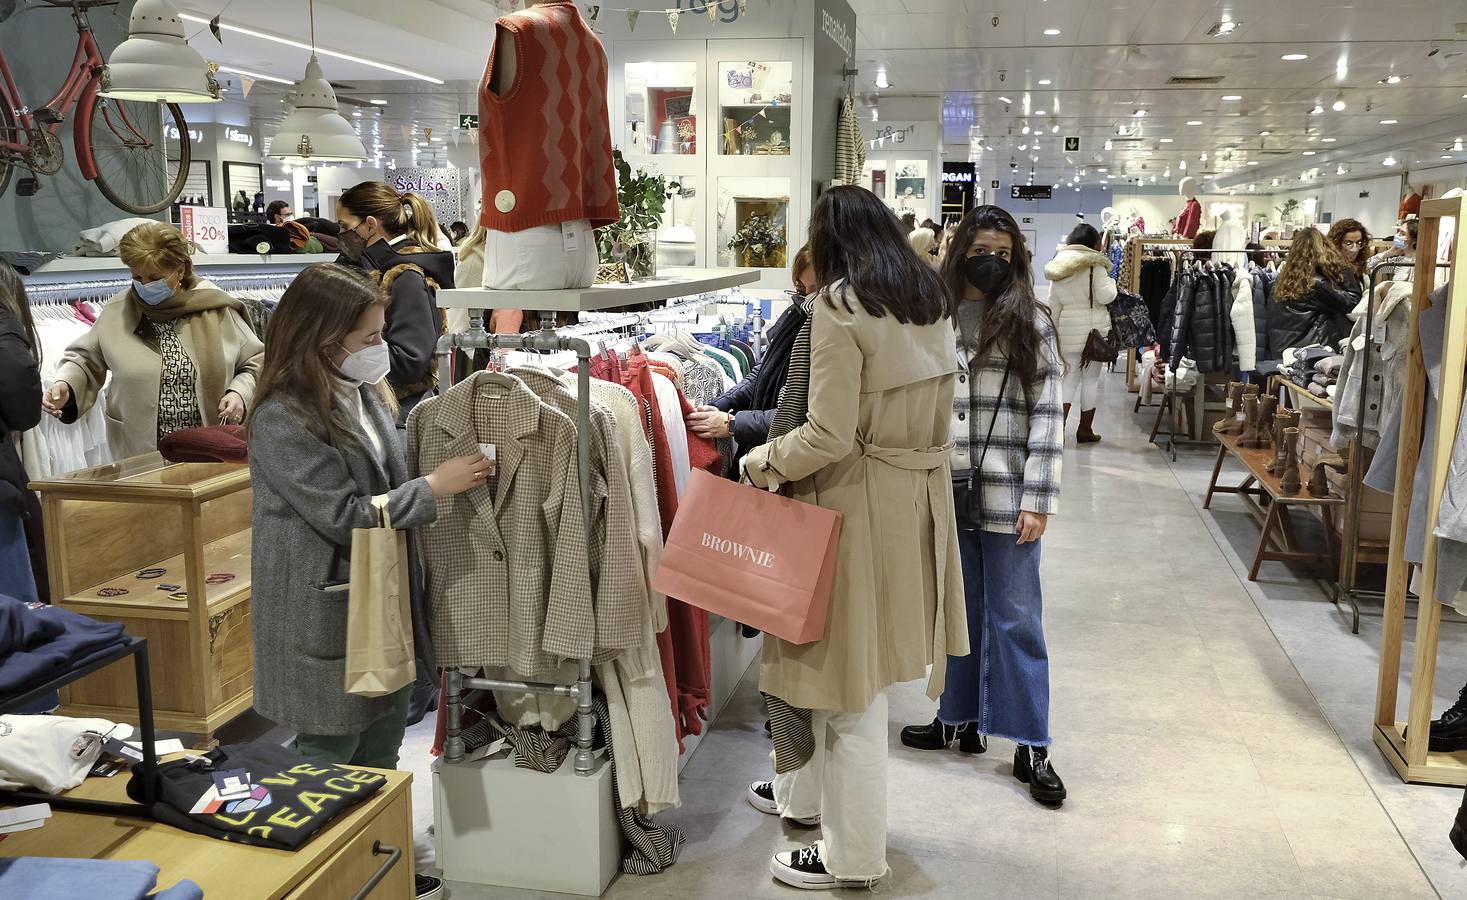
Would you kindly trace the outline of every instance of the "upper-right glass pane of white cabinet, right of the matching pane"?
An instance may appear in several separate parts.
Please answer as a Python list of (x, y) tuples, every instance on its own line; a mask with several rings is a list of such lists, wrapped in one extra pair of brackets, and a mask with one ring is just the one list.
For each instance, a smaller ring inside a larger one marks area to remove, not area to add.
[(795, 65), (739, 60), (717, 65), (719, 153), (789, 156)]

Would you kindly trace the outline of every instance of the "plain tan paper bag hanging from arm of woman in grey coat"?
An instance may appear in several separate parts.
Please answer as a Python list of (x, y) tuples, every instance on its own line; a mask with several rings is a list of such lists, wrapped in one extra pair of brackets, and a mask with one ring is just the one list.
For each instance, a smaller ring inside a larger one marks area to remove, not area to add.
[(346, 693), (380, 697), (417, 677), (408, 536), (392, 527), (387, 498), (373, 498), (378, 526), (352, 530), (346, 600)]

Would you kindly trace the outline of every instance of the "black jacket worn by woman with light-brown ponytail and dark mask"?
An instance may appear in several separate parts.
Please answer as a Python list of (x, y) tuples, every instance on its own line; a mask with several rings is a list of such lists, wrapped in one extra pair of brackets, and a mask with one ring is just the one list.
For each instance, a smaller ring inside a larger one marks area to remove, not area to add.
[(439, 383), (433, 354), (446, 323), (437, 292), (453, 286), (453, 254), (414, 247), (402, 236), (370, 244), (361, 263), (392, 298), (381, 336), (392, 354), (387, 383), (398, 396), (398, 421), (403, 423)]

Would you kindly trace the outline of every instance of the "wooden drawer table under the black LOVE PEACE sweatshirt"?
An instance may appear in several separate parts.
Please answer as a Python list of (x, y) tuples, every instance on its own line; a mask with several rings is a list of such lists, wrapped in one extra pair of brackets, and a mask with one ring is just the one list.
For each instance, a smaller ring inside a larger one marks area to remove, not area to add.
[[(387, 784), (370, 800), (293, 852), (235, 844), (161, 822), (56, 810), (41, 828), (0, 841), (0, 856), (144, 859), (161, 869), (160, 888), (189, 878), (205, 897), (241, 900), (346, 900), (390, 865), (370, 897), (406, 899), (412, 897), (412, 775), (384, 774)], [(126, 800), (126, 785), (125, 774), (88, 778), (66, 796)]]

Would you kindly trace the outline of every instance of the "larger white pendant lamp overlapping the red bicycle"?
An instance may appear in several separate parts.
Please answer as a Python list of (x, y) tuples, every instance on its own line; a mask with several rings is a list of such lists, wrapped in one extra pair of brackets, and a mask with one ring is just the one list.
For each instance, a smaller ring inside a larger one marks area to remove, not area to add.
[(123, 41), (103, 72), (103, 97), (164, 103), (219, 103), (219, 82), (183, 37), (170, 0), (138, 0)]

